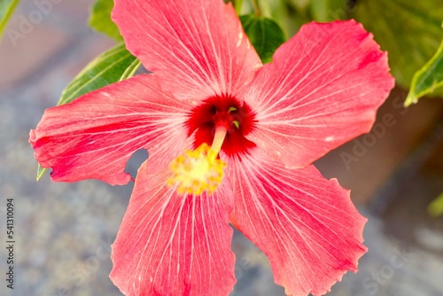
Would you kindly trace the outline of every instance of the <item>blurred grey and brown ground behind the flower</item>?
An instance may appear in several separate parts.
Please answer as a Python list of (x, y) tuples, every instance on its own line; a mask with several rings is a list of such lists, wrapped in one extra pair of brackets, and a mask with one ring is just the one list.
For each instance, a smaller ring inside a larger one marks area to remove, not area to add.
[[(302, 2), (294, 9), (303, 9)], [(0, 221), (4, 225), (6, 199), (14, 199), (16, 230), (13, 291), (4, 284), (5, 227), (0, 230), (0, 295), (117, 296), (120, 292), (108, 277), (110, 245), (133, 184), (51, 183), (49, 175), (35, 181), (29, 129), (44, 109), (56, 105), (61, 91), (91, 59), (114, 45), (86, 26), (92, 0), (52, 3), (51, 12), (43, 13), (34, 1), (22, 1), (9, 24), (19, 37), (5, 34), (0, 43)], [(323, 18), (358, 13), (361, 21), (370, 19), (367, 1), (361, 1), (362, 8), (358, 1), (351, 4)], [(32, 26), (23, 27), (23, 19), (29, 18), (35, 18)], [(374, 26), (375, 21), (365, 24), (367, 29)], [(398, 24), (392, 22), (394, 26)], [(410, 34), (421, 35), (408, 28)], [(427, 42), (438, 46), (441, 35), (437, 41), (432, 38)], [(390, 52), (391, 57), (401, 62), (395, 53)], [(399, 73), (400, 84), (410, 80)], [(328, 295), (443, 295), (443, 217), (427, 211), (443, 192), (443, 101), (424, 98), (405, 109), (406, 95), (400, 88), (393, 90), (378, 111), (377, 128), (316, 162), (323, 175), (338, 178), (352, 190), (354, 203), (369, 218), (364, 232), (369, 252), (360, 260), (360, 271), (347, 273)], [(137, 152), (128, 171), (135, 175), (145, 158), (145, 152)], [(231, 295), (284, 295), (260, 250), (238, 232), (232, 248), (237, 284)]]

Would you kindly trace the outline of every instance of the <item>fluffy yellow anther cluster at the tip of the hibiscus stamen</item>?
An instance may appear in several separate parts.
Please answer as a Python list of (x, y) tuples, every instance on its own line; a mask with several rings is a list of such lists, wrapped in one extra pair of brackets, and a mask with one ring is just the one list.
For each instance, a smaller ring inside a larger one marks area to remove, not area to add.
[[(224, 138), (224, 135), (223, 135)], [(196, 150), (185, 151), (169, 164), (172, 172), (167, 184), (177, 186), (179, 194), (214, 192), (221, 183), (226, 164), (217, 159), (218, 150), (201, 144)]]

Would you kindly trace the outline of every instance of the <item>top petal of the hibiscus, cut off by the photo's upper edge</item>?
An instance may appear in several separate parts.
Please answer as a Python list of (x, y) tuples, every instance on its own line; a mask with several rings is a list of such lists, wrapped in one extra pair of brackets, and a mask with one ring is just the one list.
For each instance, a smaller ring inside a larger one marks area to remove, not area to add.
[(115, 0), (128, 50), (178, 98), (238, 97), (260, 58), (235, 10), (221, 0)]

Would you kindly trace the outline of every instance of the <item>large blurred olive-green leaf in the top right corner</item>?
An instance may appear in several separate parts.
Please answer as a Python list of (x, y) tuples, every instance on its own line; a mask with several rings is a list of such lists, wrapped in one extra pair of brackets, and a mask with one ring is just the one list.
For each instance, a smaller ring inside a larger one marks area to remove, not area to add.
[(355, 5), (350, 17), (360, 21), (382, 50), (388, 51), (397, 85), (408, 89), (416, 71), (439, 48), (443, 4), (435, 0), (357, 0)]

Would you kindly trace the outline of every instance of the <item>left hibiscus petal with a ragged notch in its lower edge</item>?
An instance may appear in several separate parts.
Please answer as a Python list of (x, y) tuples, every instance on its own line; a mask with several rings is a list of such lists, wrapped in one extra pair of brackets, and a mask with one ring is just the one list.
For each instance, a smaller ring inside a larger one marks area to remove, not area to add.
[(191, 108), (159, 90), (153, 75), (138, 75), (47, 109), (29, 142), (40, 165), (52, 167), (52, 181), (125, 184), (136, 150), (164, 146), (178, 153)]

